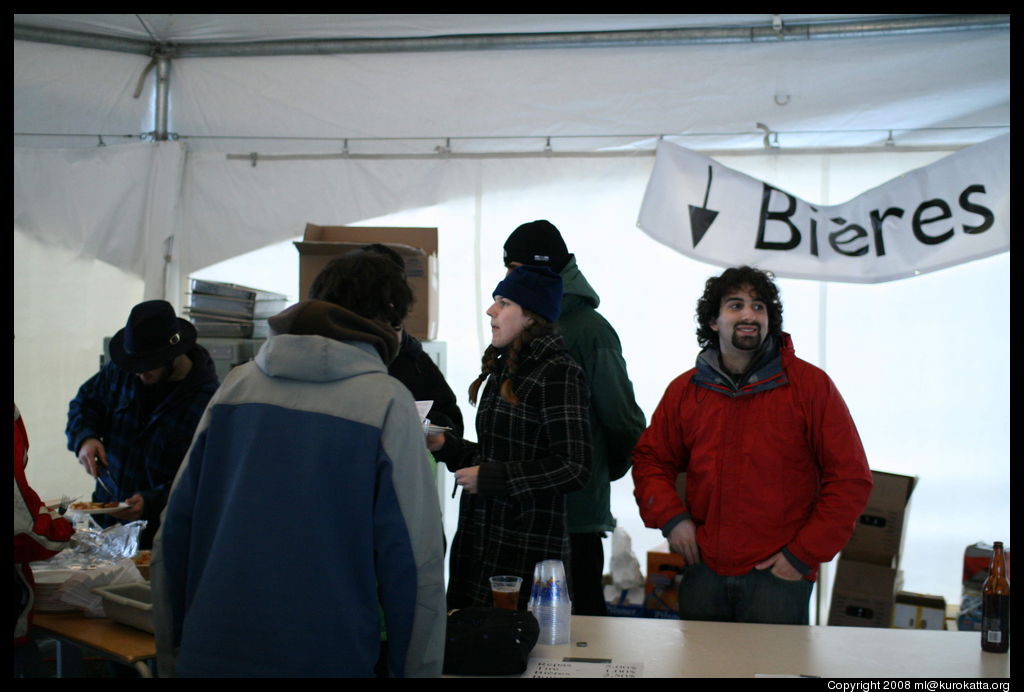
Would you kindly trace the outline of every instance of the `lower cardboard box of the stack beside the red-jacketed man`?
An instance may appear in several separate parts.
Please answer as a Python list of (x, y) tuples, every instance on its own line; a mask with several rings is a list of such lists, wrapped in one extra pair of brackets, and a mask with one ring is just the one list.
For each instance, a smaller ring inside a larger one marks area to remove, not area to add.
[(902, 576), (899, 570), (841, 558), (836, 566), (828, 624), (888, 628)]

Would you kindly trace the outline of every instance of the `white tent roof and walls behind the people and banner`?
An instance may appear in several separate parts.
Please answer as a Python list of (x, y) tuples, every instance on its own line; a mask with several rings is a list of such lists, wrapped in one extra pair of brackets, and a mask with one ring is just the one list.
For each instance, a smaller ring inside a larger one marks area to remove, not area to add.
[[(602, 294), (649, 417), (692, 363), (692, 305), (717, 271), (635, 227), (659, 138), (826, 204), (1010, 130), (1009, 15), (15, 14), (14, 25), (15, 398), (40, 467), (30, 477), (57, 493), (69, 473), (88, 480), (62, 450), (67, 401), (128, 308), (143, 296), (180, 305), (184, 279), (204, 271), (298, 298), (287, 242), (306, 222), (439, 227), (439, 337), (461, 394), (505, 236), (550, 218)], [(266, 255), (245, 255), (258, 249)], [(943, 377), (974, 350), (968, 317), (1008, 293), (1007, 256), (877, 288), (783, 284), (798, 353), (837, 380), (872, 466), (922, 476), (911, 520), (944, 535), (919, 525), (908, 538), (920, 547), (921, 566), (907, 568), (915, 591), (951, 597), (948, 563), (964, 545), (1009, 535), (1009, 499), (966, 531), (948, 525), (948, 504), (925, 509), (951, 488), (980, 505), (1009, 479), (1001, 311), (985, 336), (991, 372), (954, 378), (958, 389)], [(897, 396), (886, 378), (913, 386)], [(891, 422), (908, 409), (927, 414), (901, 436)], [(957, 469), (972, 453), (992, 470), (965, 484)], [(636, 534), (628, 483), (616, 483), (614, 512)], [(638, 548), (658, 539), (649, 532)], [(933, 549), (941, 566), (925, 557)]]

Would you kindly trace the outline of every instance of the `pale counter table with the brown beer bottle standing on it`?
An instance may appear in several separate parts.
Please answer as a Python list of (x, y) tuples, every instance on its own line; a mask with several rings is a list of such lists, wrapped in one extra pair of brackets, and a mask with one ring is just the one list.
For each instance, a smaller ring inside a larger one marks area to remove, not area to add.
[(539, 645), (530, 656), (642, 663), (645, 678), (1009, 678), (1010, 656), (983, 652), (980, 637), (976, 632), (573, 615), (569, 644)]

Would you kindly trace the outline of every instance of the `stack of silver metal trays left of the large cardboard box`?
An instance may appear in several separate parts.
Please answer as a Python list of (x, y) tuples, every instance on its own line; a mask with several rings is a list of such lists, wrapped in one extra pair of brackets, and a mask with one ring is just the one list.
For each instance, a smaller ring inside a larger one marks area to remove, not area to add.
[(266, 318), (286, 307), (280, 293), (194, 278), (186, 310), (201, 337), (263, 339)]

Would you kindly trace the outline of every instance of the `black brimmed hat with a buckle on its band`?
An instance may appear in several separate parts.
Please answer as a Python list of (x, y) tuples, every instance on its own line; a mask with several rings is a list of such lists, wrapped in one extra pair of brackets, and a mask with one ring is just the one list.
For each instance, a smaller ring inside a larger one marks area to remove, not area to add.
[(111, 339), (111, 359), (129, 373), (166, 365), (196, 343), (196, 328), (175, 316), (166, 300), (147, 300), (131, 309), (128, 323)]

